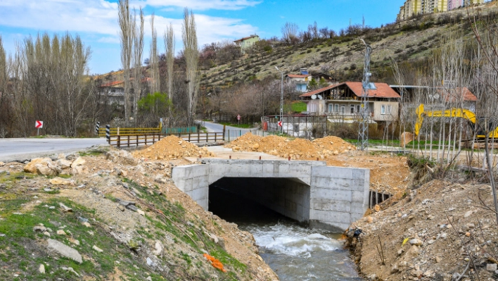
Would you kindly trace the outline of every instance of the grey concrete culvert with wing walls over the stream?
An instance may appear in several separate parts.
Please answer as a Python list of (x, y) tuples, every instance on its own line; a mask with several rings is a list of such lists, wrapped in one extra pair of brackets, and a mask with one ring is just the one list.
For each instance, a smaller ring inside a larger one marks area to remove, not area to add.
[(310, 227), (345, 230), (368, 207), (366, 169), (331, 167), (321, 161), (203, 161), (206, 165), (174, 167), (172, 179), (205, 209), (209, 186), (226, 178), (243, 195)]

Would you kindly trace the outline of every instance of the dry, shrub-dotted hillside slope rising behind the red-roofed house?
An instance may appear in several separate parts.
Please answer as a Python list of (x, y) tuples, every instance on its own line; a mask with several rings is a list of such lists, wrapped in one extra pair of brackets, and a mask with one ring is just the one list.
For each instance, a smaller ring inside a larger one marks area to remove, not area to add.
[[(480, 6), (483, 15), (496, 15), (496, 2)], [(472, 11), (472, 10), (471, 10)], [(204, 70), (201, 87), (229, 87), (236, 82), (261, 80), (277, 76), (278, 66), (284, 73), (297, 73), (308, 68), (311, 73), (330, 73), (336, 81), (361, 80), (364, 64), (364, 45), (370, 44), (373, 81), (395, 83), (390, 65), (422, 63), (427, 60), (449, 31), (461, 32), (464, 39), (473, 33), (465, 8), (447, 13), (421, 15), (401, 23), (390, 23), (379, 28), (364, 28), (356, 34), (333, 39), (312, 39), (306, 43), (283, 45), (270, 42), (267, 51), (252, 51), (231, 63)]]

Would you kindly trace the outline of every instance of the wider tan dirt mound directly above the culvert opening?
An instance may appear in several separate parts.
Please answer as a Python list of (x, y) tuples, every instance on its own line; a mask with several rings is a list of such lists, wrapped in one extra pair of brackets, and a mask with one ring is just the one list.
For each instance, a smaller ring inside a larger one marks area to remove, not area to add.
[(310, 142), (307, 139), (289, 140), (274, 135), (258, 137), (250, 132), (226, 144), (234, 151), (259, 151), (292, 159), (324, 159), (355, 150), (355, 146), (340, 137), (324, 137)]

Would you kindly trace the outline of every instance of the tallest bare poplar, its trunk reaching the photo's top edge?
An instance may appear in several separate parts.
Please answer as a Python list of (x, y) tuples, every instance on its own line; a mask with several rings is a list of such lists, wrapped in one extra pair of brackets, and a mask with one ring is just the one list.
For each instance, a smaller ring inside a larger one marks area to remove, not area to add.
[(118, 23), (120, 25), (120, 39), (121, 39), (121, 64), (123, 68), (123, 76), (125, 80), (124, 98), (125, 98), (125, 120), (129, 121), (129, 114), (131, 108), (129, 104), (130, 93), (130, 68), (132, 64), (132, 16), (129, 13), (129, 0), (118, 0)]

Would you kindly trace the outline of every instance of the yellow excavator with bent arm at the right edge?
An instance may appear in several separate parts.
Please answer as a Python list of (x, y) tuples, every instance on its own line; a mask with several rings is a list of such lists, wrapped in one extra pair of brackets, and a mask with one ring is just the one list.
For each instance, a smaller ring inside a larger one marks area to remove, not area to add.
[[(468, 120), (472, 124), (473, 130), (477, 130), (477, 135), (475, 135), (477, 140), (483, 140), (485, 139), (486, 135), (483, 130), (485, 127), (490, 127), (493, 126), (492, 123), (487, 123), (484, 118), (478, 119), (475, 116), (475, 113), (472, 111), (469, 111), (465, 108), (451, 108), (447, 109), (445, 111), (424, 111), (423, 110), (423, 104), (421, 104), (419, 107), (416, 108), (416, 115), (417, 115), (417, 120), (415, 124), (415, 131), (414, 135), (415, 137), (419, 135), (420, 128), (422, 127), (423, 123), (423, 118), (424, 117), (457, 117), (457, 118), (464, 118), (465, 120)], [(476, 124), (478, 122), (478, 124)], [(494, 137), (498, 141), (498, 127), (494, 127), (494, 130), (490, 132), (489, 135), (490, 138)]]

